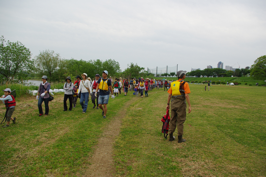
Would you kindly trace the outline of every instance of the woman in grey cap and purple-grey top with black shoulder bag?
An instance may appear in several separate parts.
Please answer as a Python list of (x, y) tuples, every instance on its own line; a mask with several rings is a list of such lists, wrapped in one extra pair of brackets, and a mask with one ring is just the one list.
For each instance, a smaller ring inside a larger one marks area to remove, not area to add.
[[(45, 113), (44, 115), (48, 115), (49, 113), (49, 100), (50, 100), (50, 96), (48, 94), (48, 91), (50, 90), (51, 85), (50, 83), (47, 82), (47, 76), (43, 76), (42, 77), (42, 83), (40, 83), (39, 89), (38, 89), (38, 93), (36, 96), (36, 99), (38, 100), (38, 108), (39, 108), (39, 116), (43, 115), (43, 107), (42, 107), (42, 103), (44, 101), (44, 105), (45, 105)], [(40, 95), (40, 97), (39, 97)]]

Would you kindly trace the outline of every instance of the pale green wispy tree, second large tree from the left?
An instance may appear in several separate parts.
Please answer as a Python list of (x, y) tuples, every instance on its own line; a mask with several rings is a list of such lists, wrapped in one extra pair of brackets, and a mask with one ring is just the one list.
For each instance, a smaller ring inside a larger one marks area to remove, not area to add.
[(50, 80), (58, 79), (55, 72), (59, 69), (59, 64), (62, 60), (59, 53), (55, 53), (53, 50), (45, 50), (40, 51), (40, 54), (34, 58), (37, 72), (40, 75), (47, 75)]

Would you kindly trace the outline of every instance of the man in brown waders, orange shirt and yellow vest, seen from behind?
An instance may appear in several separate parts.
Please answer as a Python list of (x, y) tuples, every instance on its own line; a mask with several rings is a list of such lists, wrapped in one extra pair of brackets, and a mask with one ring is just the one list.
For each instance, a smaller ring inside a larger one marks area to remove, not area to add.
[(171, 87), (168, 90), (168, 101), (166, 109), (170, 109), (170, 101), (171, 101), (171, 118), (169, 122), (169, 141), (175, 140), (173, 136), (173, 132), (178, 130), (178, 142), (185, 142), (186, 140), (182, 138), (184, 122), (186, 120), (186, 101), (189, 105), (189, 112), (191, 112), (191, 105), (189, 100), (189, 85), (184, 81), (186, 78), (186, 71), (178, 71), (177, 72), (178, 80), (171, 83)]

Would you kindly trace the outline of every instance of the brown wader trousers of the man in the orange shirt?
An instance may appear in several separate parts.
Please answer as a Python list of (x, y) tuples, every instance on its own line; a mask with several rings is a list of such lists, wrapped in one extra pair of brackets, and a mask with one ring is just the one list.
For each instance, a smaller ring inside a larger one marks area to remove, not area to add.
[(185, 120), (186, 100), (174, 99), (173, 101), (171, 101), (171, 118), (169, 122), (169, 133), (175, 132), (177, 126), (178, 135), (183, 135), (183, 124)]

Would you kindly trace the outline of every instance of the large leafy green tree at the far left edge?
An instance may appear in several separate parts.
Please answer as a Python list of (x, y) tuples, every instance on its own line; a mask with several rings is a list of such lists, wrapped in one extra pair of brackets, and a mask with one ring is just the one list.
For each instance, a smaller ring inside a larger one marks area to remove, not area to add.
[(10, 42), (4, 45), (4, 36), (0, 38), (0, 74), (8, 81), (14, 78), (19, 81), (25, 79), (34, 70), (33, 61), (30, 59), (30, 49), (21, 42)]

